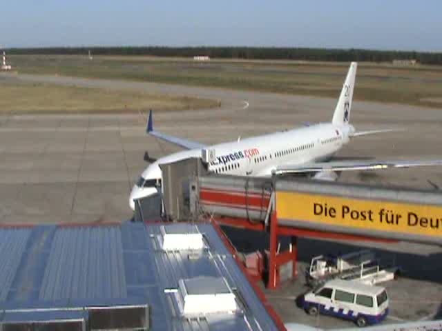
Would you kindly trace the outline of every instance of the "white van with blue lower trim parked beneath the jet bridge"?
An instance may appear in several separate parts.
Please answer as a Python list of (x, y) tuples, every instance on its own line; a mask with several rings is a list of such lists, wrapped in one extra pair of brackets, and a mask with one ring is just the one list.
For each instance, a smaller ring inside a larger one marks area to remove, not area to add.
[(388, 314), (385, 288), (341, 279), (327, 281), (308, 292), (301, 303), (311, 315), (321, 313), (350, 319), (360, 327), (379, 323)]

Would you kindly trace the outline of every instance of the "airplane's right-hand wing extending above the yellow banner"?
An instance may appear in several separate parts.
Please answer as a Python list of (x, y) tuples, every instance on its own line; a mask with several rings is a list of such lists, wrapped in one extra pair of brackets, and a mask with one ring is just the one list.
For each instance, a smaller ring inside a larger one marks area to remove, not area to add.
[(324, 172), (324, 171), (350, 171), (350, 170), (382, 170), (388, 168), (412, 168), (430, 165), (442, 165), (439, 160), (418, 160), (418, 161), (378, 161), (378, 160), (352, 160), (352, 161), (330, 161), (307, 163), (302, 165), (278, 165), (275, 174), (300, 174), (304, 172)]

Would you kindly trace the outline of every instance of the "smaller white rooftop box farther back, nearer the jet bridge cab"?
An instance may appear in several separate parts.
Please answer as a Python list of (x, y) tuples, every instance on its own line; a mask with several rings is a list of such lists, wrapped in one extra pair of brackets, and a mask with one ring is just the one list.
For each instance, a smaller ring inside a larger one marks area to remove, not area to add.
[[(189, 232), (195, 230), (195, 232)], [(197, 228), (162, 227), (163, 250), (202, 250), (204, 241)]]

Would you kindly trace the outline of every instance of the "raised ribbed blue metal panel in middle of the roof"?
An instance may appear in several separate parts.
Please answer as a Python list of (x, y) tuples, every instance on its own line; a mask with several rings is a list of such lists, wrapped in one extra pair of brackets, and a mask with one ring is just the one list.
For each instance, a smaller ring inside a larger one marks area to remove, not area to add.
[(39, 299), (126, 298), (122, 251), (119, 226), (57, 228)]

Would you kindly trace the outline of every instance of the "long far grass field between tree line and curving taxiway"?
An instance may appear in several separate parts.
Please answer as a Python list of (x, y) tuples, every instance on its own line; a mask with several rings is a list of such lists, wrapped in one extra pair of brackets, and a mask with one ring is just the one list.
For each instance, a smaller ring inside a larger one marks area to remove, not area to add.
[[(11, 56), (19, 72), (128, 79), (194, 86), (337, 97), (348, 63), (155, 57)], [(442, 107), (442, 67), (360, 63), (355, 99)]]

